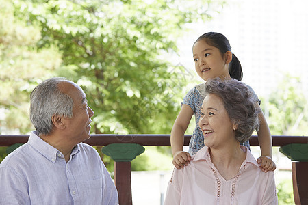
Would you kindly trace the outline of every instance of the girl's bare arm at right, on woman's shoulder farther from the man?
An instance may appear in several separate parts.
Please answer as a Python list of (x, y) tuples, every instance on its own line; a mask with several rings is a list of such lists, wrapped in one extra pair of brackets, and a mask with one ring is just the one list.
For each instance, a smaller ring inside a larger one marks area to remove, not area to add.
[(261, 156), (257, 159), (257, 162), (260, 164), (260, 169), (262, 171), (274, 171), (276, 165), (272, 161), (272, 135), (270, 134), (270, 128), (268, 128), (263, 112), (259, 113), (259, 120), (260, 127), (257, 134), (259, 146), (261, 148)]

